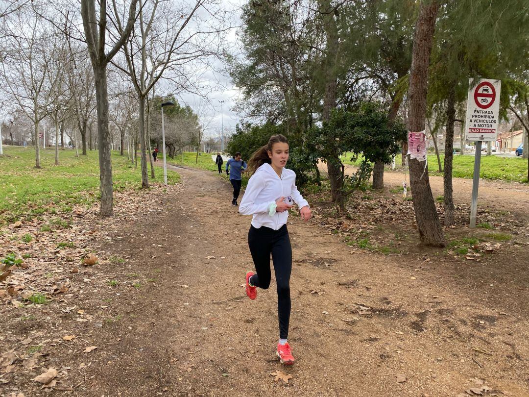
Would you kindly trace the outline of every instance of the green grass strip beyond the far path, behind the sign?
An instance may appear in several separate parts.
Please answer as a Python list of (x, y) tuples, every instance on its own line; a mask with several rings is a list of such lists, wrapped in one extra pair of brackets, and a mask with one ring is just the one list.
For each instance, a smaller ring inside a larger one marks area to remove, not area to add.
[[(440, 155), (441, 164), (444, 161), (444, 154)], [(357, 161), (350, 161), (351, 154), (341, 156), (343, 164), (359, 165), (362, 158)], [(401, 156), (395, 157), (395, 164), (400, 166)], [(437, 167), (437, 157), (435, 154), (428, 155), (428, 170), (431, 175), (443, 175)], [(455, 155), (453, 159), (452, 176), (457, 178), (472, 178), (474, 172), (474, 156)], [(495, 179), (507, 182), (527, 182), (527, 160), (521, 157), (498, 157), (481, 156), (481, 167), (479, 176), (482, 179)]]

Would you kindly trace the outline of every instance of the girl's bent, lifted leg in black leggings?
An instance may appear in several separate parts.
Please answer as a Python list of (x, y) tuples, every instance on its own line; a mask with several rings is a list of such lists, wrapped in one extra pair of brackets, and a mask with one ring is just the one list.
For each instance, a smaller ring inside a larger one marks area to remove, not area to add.
[(248, 246), (250, 247), (253, 264), (256, 266), (257, 272), (257, 274), (250, 277), (250, 283), (253, 286), (263, 288), (263, 290), (266, 290), (270, 286), (271, 278), (270, 252), (272, 240), (270, 233), (267, 233), (268, 230), (266, 229), (272, 231), (264, 226), (259, 229), (251, 226), (248, 232)]

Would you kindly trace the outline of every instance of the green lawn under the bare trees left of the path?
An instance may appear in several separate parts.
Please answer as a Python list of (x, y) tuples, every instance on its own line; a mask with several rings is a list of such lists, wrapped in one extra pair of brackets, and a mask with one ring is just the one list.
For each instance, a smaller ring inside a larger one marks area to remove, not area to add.
[[(59, 152), (60, 165), (54, 165), (54, 150), (40, 150), (41, 169), (34, 168), (33, 147), (4, 147), (0, 156), (0, 225), (21, 213), (70, 212), (74, 205), (91, 206), (99, 198), (98, 152), (75, 157), (75, 150)], [(213, 164), (214, 165), (214, 164)], [(163, 173), (157, 170), (153, 182), (161, 182)], [(112, 152), (114, 191), (141, 188), (140, 168), (135, 169), (126, 157)], [(176, 184), (178, 173), (168, 171), (168, 183)], [(50, 222), (50, 226), (67, 228), (67, 221)]]

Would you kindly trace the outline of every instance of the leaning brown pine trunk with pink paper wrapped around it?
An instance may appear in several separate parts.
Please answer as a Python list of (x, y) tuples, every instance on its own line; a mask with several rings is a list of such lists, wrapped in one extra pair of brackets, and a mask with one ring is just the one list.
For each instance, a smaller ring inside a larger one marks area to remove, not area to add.
[[(421, 2), (419, 16), (415, 24), (412, 67), (408, 87), (408, 131), (423, 131), (426, 116), (426, 91), (428, 65), (432, 51), (435, 17), (439, 5), (436, 0)], [(424, 172), (424, 175), (423, 175)], [(439, 215), (428, 177), (428, 167), (417, 159), (409, 159), (409, 179), (413, 192), (413, 207), (421, 242), (434, 247), (445, 247)]]

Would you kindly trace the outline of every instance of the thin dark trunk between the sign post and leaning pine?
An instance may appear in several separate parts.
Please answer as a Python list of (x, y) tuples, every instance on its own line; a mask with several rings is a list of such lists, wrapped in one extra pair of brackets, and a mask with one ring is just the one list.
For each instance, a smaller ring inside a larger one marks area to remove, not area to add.
[(446, 106), (446, 140), (444, 146), (444, 174), (443, 174), (443, 206), (444, 225), (455, 224), (454, 199), (452, 188), (452, 163), (454, 146), (454, 119), (455, 119), (455, 82), (450, 84), (448, 104)]

